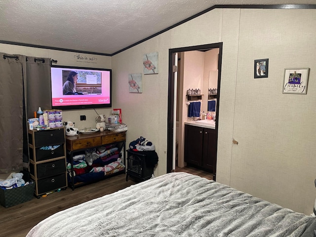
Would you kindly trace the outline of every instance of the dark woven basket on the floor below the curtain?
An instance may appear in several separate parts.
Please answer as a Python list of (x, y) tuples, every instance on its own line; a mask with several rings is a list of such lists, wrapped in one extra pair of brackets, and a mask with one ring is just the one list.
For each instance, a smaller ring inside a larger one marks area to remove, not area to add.
[(30, 201), (34, 195), (35, 183), (13, 189), (0, 189), (0, 204), (4, 207), (14, 206)]

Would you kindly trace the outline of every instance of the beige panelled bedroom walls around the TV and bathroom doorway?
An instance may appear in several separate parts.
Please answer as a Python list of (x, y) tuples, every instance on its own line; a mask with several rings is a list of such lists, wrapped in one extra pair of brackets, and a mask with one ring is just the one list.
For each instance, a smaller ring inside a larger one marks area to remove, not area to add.
[[(112, 61), (98, 56), (104, 68), (113, 69), (114, 106), (122, 108), (128, 125), (127, 144), (139, 136), (151, 140), (159, 157), (155, 175), (166, 172), (168, 50), (223, 42), (217, 181), (312, 213), (315, 25), (315, 9), (214, 9), (113, 56)], [(73, 57), (69, 52), (5, 44), (0, 44), (0, 51), (51, 57), (61, 65), (67, 63), (65, 55)], [(142, 94), (129, 93), (128, 74), (142, 73), (143, 55), (156, 51), (159, 73), (143, 75)], [(269, 58), (269, 78), (254, 79), (254, 60), (263, 58)], [(311, 69), (307, 95), (281, 93), (284, 68), (294, 67)], [(107, 114), (109, 109), (100, 111)], [(84, 113), (91, 120), (96, 115), (93, 110)], [(80, 114), (73, 111), (65, 116), (79, 120)], [(233, 139), (238, 145), (232, 144)]]

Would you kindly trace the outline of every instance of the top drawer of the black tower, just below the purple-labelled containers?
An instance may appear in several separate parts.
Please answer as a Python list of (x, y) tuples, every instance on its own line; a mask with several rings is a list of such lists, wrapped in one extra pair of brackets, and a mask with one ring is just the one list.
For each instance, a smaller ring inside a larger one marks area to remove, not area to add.
[[(29, 134), (29, 143), (33, 143), (32, 134)], [(65, 143), (64, 129), (51, 129), (34, 133), (35, 147), (52, 146)]]

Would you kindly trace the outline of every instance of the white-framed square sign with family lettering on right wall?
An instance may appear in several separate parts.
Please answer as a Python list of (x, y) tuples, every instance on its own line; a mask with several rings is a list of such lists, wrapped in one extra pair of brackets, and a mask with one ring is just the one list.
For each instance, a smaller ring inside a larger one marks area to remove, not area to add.
[(306, 94), (309, 68), (284, 69), (282, 93)]

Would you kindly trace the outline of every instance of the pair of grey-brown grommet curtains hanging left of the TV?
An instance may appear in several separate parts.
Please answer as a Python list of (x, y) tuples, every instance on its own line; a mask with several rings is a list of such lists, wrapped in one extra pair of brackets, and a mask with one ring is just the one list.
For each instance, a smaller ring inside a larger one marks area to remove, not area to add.
[(0, 173), (28, 167), (27, 119), (51, 109), (50, 91), (49, 58), (0, 53)]

